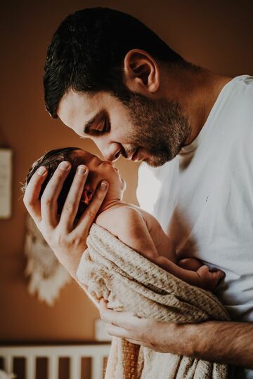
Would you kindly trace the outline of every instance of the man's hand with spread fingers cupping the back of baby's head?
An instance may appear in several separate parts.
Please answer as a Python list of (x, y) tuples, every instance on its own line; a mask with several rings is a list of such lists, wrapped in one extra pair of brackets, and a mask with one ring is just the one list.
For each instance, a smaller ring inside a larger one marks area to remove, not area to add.
[(70, 163), (67, 161), (61, 162), (48, 182), (41, 200), (39, 200), (41, 185), (47, 175), (46, 168), (41, 166), (27, 185), (24, 203), (58, 260), (74, 277), (79, 260), (86, 248), (89, 229), (105, 198), (108, 183), (101, 182), (98, 185), (91, 204), (89, 204), (77, 222), (75, 216), (88, 175), (88, 169), (84, 165), (80, 165), (77, 168), (63, 211), (58, 215), (57, 199), (69, 172)]

